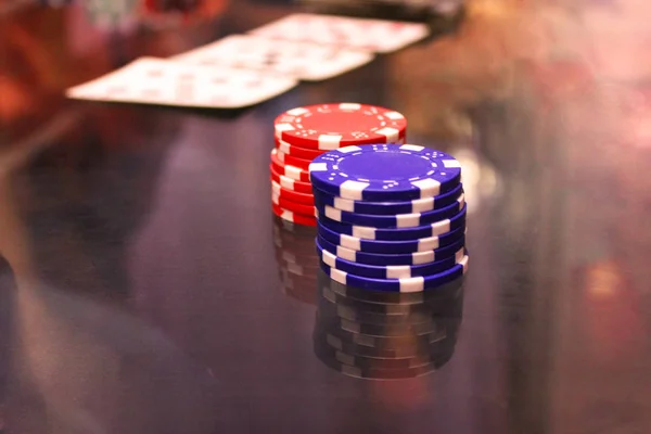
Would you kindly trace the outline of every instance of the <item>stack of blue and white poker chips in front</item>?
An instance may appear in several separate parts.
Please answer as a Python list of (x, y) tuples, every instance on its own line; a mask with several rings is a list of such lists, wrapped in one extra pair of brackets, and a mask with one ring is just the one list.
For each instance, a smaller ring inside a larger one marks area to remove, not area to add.
[(346, 146), (309, 165), (320, 267), (332, 280), (421, 292), (468, 270), (465, 196), (452, 156), (413, 144)]

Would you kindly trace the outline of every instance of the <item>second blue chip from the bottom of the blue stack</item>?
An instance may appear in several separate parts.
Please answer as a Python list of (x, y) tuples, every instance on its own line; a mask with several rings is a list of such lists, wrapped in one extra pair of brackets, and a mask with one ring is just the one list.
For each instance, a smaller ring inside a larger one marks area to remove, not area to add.
[(319, 253), (319, 258), (327, 266), (341, 271), (349, 272), (350, 275), (371, 279), (403, 279), (418, 276), (436, 275), (452, 268), (455, 265), (460, 263), (464, 256), (467, 256), (465, 250), (461, 247), (455, 253), (455, 256), (450, 256), (435, 263), (422, 265), (390, 265), (382, 267), (353, 263), (350, 260), (337, 257), (327, 250), (323, 250), (319, 241), (317, 241), (317, 251)]

